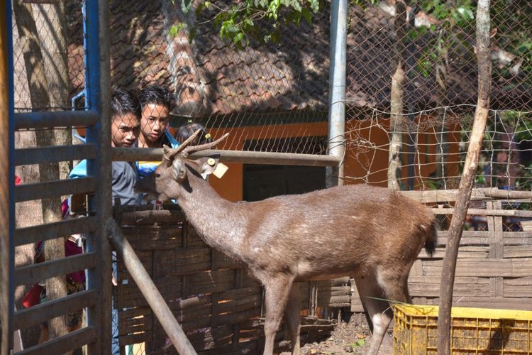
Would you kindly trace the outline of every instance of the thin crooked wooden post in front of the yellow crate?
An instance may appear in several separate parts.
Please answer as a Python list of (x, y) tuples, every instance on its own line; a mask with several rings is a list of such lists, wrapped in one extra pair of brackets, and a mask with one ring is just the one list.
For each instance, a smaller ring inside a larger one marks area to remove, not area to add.
[(475, 184), (478, 158), (482, 148), (484, 129), (489, 107), (491, 92), (492, 62), (489, 57), (489, 0), (479, 0), (477, 4), (477, 61), (478, 61), (478, 100), (475, 111), (475, 121), (464, 171), (460, 179), (458, 199), (455, 212), (450, 221), (449, 240), (443, 258), (443, 272), (441, 275), (440, 310), (438, 314), (438, 355), (450, 354), (450, 310), (453, 303), (453, 286), (455, 280), (456, 258), (458, 246), (462, 238), (462, 228), (469, 204), (471, 191)]

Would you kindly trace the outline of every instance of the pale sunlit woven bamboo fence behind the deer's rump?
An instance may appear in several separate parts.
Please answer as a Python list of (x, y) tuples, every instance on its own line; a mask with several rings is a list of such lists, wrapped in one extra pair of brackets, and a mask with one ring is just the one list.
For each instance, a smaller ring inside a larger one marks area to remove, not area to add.
[[(414, 263), (409, 290), (414, 304), (438, 305), (440, 277), (456, 190), (404, 192), (433, 206), (443, 230), (432, 258)], [(516, 198), (514, 196), (526, 198)], [(506, 195), (506, 196), (505, 196)], [(476, 189), (460, 241), (453, 306), (532, 310), (532, 192)], [(362, 312), (355, 290), (352, 312)]]

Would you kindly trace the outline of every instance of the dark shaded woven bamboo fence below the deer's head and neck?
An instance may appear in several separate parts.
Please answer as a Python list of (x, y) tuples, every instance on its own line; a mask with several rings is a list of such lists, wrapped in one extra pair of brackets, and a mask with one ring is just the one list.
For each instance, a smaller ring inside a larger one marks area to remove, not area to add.
[[(116, 207), (124, 236), (143, 263), (182, 325), (196, 351), (202, 354), (255, 354), (262, 347), (264, 307), (262, 287), (243, 266), (211, 249), (184, 219), (177, 206), (154, 210), (148, 206)], [(301, 339), (312, 342), (328, 334), (333, 321), (316, 317), (316, 310), (350, 306), (349, 279), (301, 283)], [(120, 345), (144, 344), (146, 354), (175, 350), (147, 302), (118, 260)], [(277, 337), (282, 349), (284, 331)]]

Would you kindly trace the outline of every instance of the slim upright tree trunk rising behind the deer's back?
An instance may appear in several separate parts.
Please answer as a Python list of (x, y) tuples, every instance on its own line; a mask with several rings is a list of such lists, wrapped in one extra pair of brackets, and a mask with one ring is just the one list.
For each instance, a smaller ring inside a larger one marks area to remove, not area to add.
[(403, 86), (406, 47), (406, 4), (404, 0), (395, 3), (395, 58), (397, 69), (392, 76), (392, 93), (390, 97), (390, 142), (388, 155), (388, 187), (401, 190), (401, 151), (403, 146)]

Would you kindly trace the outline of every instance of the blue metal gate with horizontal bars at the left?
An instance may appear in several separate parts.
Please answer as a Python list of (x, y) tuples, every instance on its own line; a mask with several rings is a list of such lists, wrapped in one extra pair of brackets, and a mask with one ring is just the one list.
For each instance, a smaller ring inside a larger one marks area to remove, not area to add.
[[(88, 344), (89, 354), (109, 354), (111, 351), (111, 252), (102, 229), (103, 221), (111, 216), (111, 129), (109, 103), (106, 102), (110, 97), (109, 4), (106, 0), (88, 2), (84, 16), (84, 28), (87, 30), (86, 110), (19, 114), (14, 114), (13, 109), (11, 2), (0, 2), (0, 263), (1, 285), (4, 286), (0, 293), (1, 354), (8, 354), (13, 349), (14, 330), (31, 327), (83, 307), (87, 307), (86, 327), (23, 349), (21, 354), (62, 354), (84, 344)], [(13, 136), (16, 130), (70, 126), (87, 126), (86, 144), (14, 149)], [(82, 159), (89, 160), (87, 178), (35, 182), (14, 187), (15, 165)], [(91, 204), (94, 215), (14, 229), (15, 202), (92, 192), (95, 192)], [(77, 233), (88, 236), (86, 253), (14, 268), (16, 246)], [(86, 290), (13, 312), (16, 285), (32, 285), (38, 280), (79, 269), (87, 269)]]

